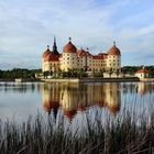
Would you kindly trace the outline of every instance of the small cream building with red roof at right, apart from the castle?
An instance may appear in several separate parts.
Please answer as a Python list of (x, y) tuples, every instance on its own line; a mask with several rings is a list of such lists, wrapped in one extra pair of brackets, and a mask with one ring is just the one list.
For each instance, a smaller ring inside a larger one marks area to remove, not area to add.
[(142, 69), (138, 70), (135, 73), (135, 76), (139, 78), (148, 78), (150, 77), (150, 70), (147, 70), (144, 66)]

